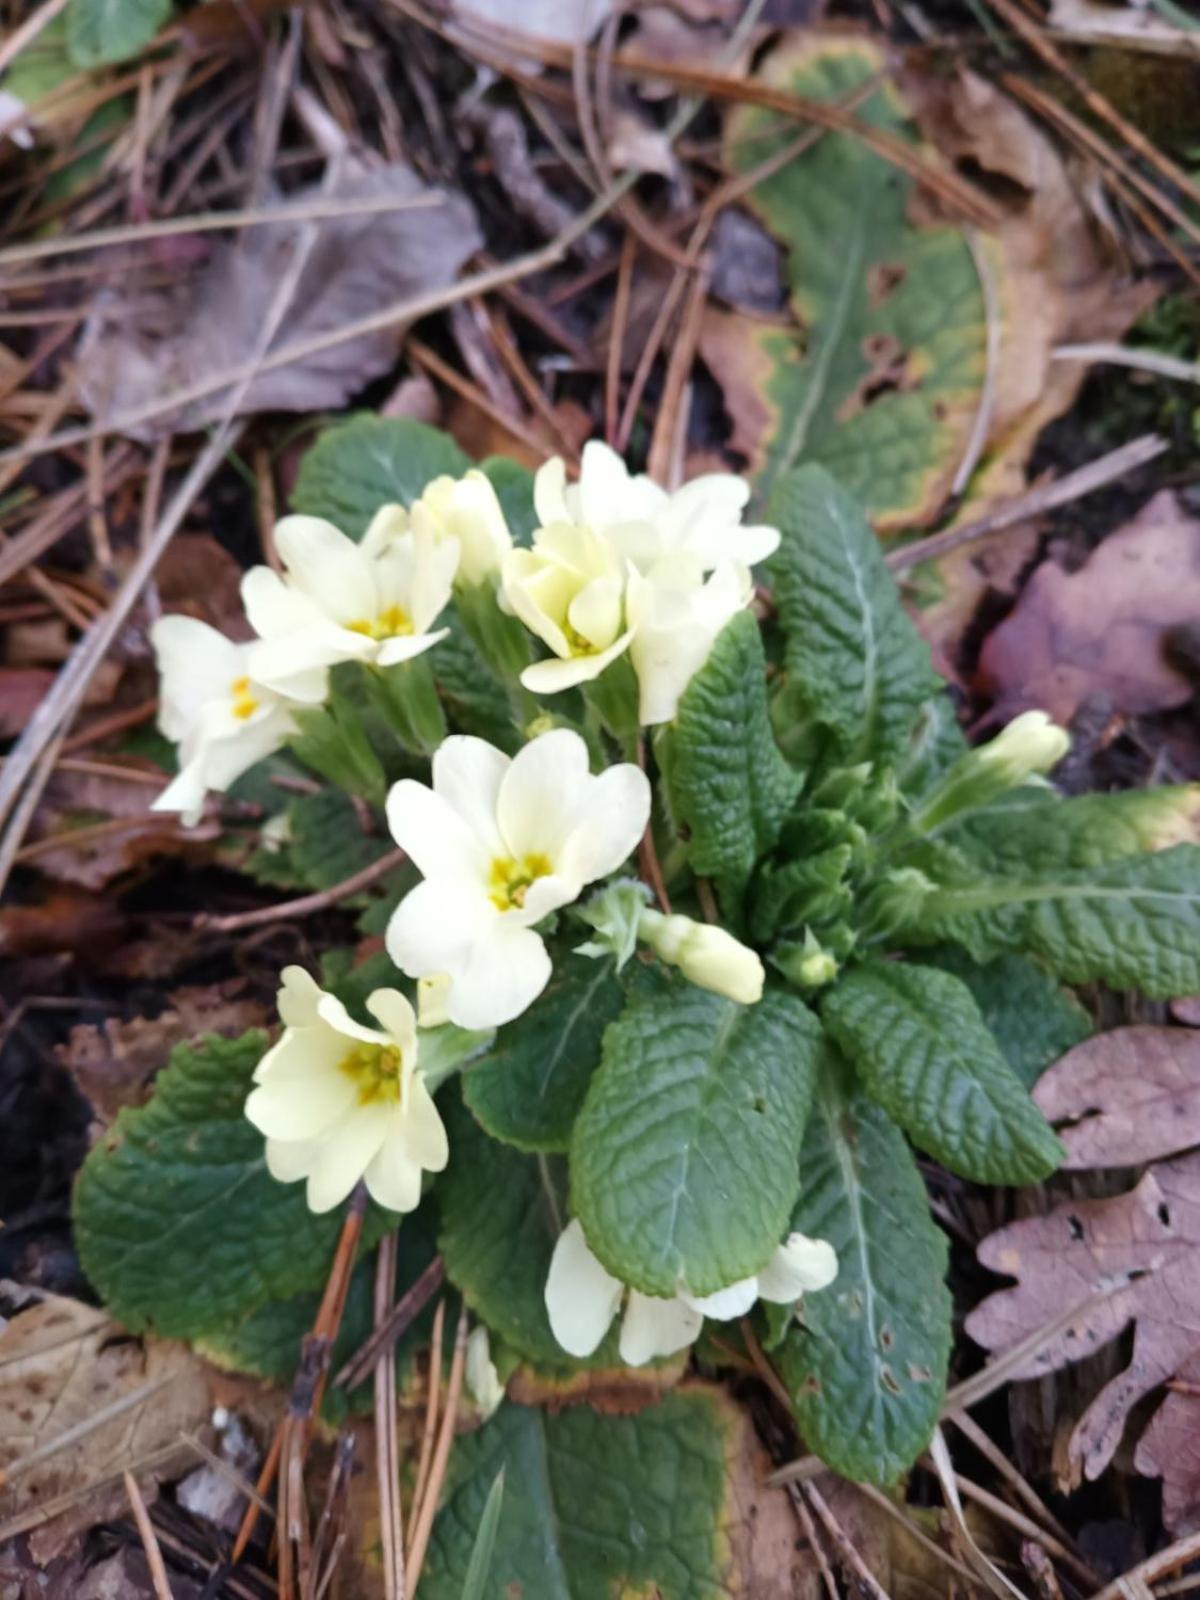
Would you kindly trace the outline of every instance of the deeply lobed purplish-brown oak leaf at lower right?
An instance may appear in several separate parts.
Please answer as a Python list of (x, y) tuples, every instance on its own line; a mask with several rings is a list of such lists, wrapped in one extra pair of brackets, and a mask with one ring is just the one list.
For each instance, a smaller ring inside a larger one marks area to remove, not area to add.
[(1053, 1373), (1136, 1323), (1130, 1365), (1101, 1389), (1067, 1446), (1072, 1480), (1099, 1477), (1133, 1406), (1200, 1354), (1200, 1155), (1160, 1162), (1128, 1194), (1011, 1222), (982, 1242), (979, 1261), (1018, 1280), (966, 1318), (987, 1350), (1006, 1350), (1102, 1294), (1014, 1378)]

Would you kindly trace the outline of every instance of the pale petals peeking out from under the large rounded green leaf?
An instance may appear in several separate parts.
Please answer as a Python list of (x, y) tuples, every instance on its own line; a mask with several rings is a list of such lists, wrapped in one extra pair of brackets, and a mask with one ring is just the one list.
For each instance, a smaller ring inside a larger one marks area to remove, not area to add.
[(550, 1331), (568, 1355), (584, 1358), (598, 1349), (613, 1317), (624, 1302), (621, 1360), (643, 1366), (686, 1349), (704, 1318), (731, 1322), (744, 1317), (755, 1301), (790, 1306), (802, 1294), (827, 1288), (837, 1277), (837, 1254), (824, 1238), (789, 1234), (771, 1259), (750, 1278), (730, 1283), (715, 1294), (694, 1296), (680, 1285), (670, 1299), (627, 1290), (592, 1254), (579, 1221), (558, 1235), (546, 1278), (546, 1312)]

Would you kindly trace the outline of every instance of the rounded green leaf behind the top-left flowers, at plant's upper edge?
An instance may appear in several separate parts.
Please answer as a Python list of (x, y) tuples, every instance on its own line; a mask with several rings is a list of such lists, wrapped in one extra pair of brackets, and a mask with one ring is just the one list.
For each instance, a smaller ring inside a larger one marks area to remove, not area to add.
[(326, 427), (301, 461), (291, 509), (362, 539), (381, 506), (411, 506), (442, 474), (470, 466), (448, 434), (411, 418), (352, 416)]

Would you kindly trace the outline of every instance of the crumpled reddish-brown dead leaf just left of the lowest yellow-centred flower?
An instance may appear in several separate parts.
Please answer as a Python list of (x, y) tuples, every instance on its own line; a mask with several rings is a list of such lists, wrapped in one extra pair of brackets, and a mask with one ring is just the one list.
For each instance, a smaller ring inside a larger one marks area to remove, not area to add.
[(160, 1067), (176, 1045), (198, 1034), (237, 1038), (251, 1027), (262, 1027), (267, 1008), (243, 997), (243, 978), (222, 984), (178, 989), (170, 1010), (155, 1018), (136, 1016), (128, 1022), (107, 1018), (102, 1024), (72, 1027), (58, 1059), (91, 1106), (99, 1134), (125, 1106), (144, 1106)]

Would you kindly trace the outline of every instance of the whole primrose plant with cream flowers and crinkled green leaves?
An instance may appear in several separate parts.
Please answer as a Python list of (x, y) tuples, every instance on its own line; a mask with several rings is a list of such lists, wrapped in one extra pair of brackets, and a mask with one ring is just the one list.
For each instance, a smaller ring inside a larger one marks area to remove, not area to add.
[(154, 630), (157, 803), (272, 811), (275, 883), (406, 866), (350, 902), (378, 954), (286, 966), (269, 1048), (176, 1053), (91, 1154), (94, 1283), (285, 1376), (363, 1184), (365, 1248), (398, 1222), (405, 1282), (440, 1253), (525, 1394), (757, 1338), (805, 1446), (896, 1478), (950, 1354), (914, 1150), (1048, 1176), (1029, 1088), (1088, 1029), (1058, 981), (1200, 989), (1194, 792), (1064, 798), (1035, 709), (968, 749), (813, 466), (749, 525), (734, 477), (590, 443), (530, 478), (358, 418), (296, 504), (253, 638)]

